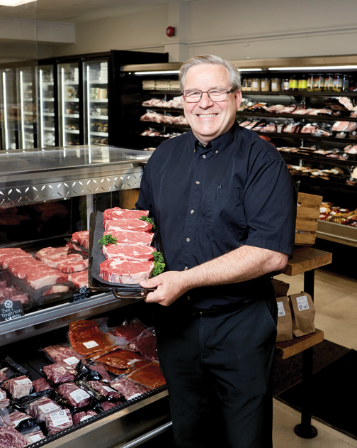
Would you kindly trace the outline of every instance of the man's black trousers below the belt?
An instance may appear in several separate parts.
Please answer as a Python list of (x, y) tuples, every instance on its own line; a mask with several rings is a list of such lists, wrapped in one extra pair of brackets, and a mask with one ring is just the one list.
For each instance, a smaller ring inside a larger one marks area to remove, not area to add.
[(179, 448), (271, 448), (276, 300), (193, 317), (157, 307), (157, 348)]

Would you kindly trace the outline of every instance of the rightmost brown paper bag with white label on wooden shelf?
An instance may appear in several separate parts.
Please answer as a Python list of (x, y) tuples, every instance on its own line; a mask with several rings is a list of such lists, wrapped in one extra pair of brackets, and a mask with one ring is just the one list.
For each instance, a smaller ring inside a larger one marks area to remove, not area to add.
[(296, 337), (314, 332), (314, 302), (310, 294), (289, 295), (290, 308), (293, 314), (293, 334)]

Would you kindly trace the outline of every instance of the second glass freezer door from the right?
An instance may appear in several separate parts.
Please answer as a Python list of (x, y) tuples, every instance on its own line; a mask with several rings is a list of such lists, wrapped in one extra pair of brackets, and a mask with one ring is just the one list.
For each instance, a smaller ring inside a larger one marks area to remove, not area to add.
[(60, 146), (80, 144), (79, 65), (58, 65)]

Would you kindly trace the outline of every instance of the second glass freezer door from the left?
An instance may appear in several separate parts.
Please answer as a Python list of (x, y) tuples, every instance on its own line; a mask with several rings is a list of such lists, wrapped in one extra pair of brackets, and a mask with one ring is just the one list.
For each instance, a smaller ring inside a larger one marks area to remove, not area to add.
[(18, 103), (18, 147), (37, 146), (37, 106), (35, 99), (35, 67), (16, 69)]

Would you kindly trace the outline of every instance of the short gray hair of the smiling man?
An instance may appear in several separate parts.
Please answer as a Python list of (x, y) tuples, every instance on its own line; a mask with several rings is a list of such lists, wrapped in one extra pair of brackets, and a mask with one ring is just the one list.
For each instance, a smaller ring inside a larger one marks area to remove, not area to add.
[(223, 65), (228, 70), (229, 73), (229, 82), (232, 92), (237, 92), (237, 90), (241, 89), (241, 76), (238, 68), (229, 62), (229, 60), (224, 60), (219, 56), (214, 55), (200, 55), (195, 56), (195, 58), (191, 58), (183, 62), (181, 65), (180, 73), (179, 73), (179, 81), (181, 92), (183, 92), (183, 84), (185, 82), (186, 73), (188, 69), (193, 67), (193, 65), (204, 65), (204, 64), (212, 64), (212, 65)]

